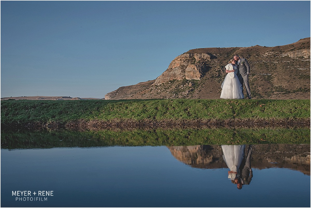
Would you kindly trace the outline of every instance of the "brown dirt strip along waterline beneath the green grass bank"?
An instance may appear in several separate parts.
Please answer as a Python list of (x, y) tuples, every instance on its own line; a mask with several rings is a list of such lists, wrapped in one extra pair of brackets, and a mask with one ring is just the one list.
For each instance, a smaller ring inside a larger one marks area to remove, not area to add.
[(134, 120), (114, 119), (103, 120), (75, 120), (67, 123), (10, 123), (1, 124), (3, 129), (29, 129), (29, 130), (135, 130), (135, 129), (205, 129), (205, 128), (310, 128), (310, 118), (287, 119), (196, 119), (196, 120)]

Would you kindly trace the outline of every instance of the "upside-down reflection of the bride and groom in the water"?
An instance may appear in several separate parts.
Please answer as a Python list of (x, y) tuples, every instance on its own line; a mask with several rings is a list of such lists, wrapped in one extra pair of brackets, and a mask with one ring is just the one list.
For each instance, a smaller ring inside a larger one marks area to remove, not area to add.
[(223, 159), (230, 169), (228, 178), (232, 183), (237, 184), (238, 189), (241, 189), (243, 185), (249, 185), (253, 178), (251, 168), (253, 146), (248, 145), (246, 153), (245, 147), (246, 145), (221, 145), (224, 153)]

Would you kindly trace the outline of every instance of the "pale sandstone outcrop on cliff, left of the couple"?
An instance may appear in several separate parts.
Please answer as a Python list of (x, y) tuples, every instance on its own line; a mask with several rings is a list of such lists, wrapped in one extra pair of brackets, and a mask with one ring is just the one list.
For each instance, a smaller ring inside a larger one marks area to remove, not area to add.
[(184, 53), (176, 57), (168, 69), (163, 72), (153, 85), (158, 85), (171, 80), (200, 80), (209, 70), (207, 61), (216, 58), (207, 53)]

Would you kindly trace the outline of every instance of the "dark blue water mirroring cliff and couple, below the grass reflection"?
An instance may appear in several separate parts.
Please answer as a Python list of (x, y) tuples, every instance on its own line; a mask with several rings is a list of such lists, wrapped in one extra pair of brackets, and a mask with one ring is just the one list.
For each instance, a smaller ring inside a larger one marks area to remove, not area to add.
[[(54, 144), (68, 138), (49, 134)], [(30, 132), (1, 140), (1, 207), (310, 207), (309, 144), (29, 148), (40, 145)]]

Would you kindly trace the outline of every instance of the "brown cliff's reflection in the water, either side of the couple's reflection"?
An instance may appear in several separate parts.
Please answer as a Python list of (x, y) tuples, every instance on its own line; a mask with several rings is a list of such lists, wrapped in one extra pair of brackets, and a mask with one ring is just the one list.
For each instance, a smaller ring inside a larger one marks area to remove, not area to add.
[[(227, 168), (219, 145), (170, 146), (171, 154), (194, 168)], [(310, 145), (253, 145), (252, 168), (280, 167), (310, 175)]]

